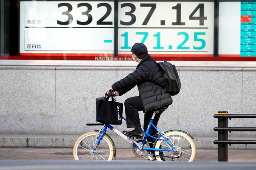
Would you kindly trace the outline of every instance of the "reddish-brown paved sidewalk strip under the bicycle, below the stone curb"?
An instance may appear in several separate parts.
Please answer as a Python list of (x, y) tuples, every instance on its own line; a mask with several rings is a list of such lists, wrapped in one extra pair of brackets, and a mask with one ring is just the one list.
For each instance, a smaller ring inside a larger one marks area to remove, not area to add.
[[(0, 160), (73, 160), (73, 148), (0, 148)], [(132, 152), (132, 148), (116, 149), (116, 160), (145, 160), (138, 158)], [(197, 149), (194, 161), (217, 162), (217, 149)], [(256, 150), (229, 149), (228, 162), (256, 162)]]

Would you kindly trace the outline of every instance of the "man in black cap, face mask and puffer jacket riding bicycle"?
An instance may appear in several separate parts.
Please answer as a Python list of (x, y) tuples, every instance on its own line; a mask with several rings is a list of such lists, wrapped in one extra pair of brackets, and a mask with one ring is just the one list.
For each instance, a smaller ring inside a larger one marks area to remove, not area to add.
[[(124, 135), (142, 138), (143, 132), (140, 125), (138, 111), (144, 111), (144, 126), (146, 131), (153, 111), (161, 107), (168, 107), (172, 104), (171, 95), (166, 92), (164, 76), (156, 61), (148, 54), (146, 45), (135, 43), (131, 49), (132, 59), (138, 62), (136, 70), (126, 77), (112, 84), (115, 96), (122, 96), (134, 86), (138, 86), (139, 96), (127, 98), (124, 102), (127, 128), (134, 128), (132, 131), (123, 131)], [(153, 124), (157, 125), (161, 113), (156, 114)], [(150, 129), (150, 135), (155, 135), (157, 131)], [(152, 142), (152, 139), (148, 139)], [(152, 145), (152, 144), (151, 144)]]

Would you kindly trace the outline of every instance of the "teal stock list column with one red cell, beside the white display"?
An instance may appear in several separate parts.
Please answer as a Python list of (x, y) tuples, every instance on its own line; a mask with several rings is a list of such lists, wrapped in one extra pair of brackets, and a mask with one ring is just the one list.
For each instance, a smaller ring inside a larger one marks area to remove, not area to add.
[(256, 2), (241, 2), (240, 56), (256, 57)]

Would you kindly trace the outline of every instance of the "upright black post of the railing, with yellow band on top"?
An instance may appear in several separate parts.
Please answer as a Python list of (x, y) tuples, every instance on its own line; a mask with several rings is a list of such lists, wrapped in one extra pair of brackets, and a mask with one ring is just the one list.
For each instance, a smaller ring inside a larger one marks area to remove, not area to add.
[[(228, 111), (218, 111), (218, 115), (226, 115)], [(228, 127), (228, 118), (218, 118), (218, 127)], [(228, 131), (218, 131), (218, 140), (228, 140)], [(228, 161), (228, 145), (218, 144), (218, 161)]]

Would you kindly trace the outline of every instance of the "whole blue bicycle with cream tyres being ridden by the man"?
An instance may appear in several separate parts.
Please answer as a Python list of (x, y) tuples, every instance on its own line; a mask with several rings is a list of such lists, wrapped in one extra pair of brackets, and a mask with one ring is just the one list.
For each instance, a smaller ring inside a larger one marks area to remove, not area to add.
[[(109, 95), (111, 96), (111, 95)], [(116, 158), (116, 147), (114, 141), (106, 133), (107, 129), (114, 131), (117, 135), (128, 141), (132, 145), (133, 153), (138, 157), (145, 157), (149, 160), (157, 161), (186, 161), (191, 162), (196, 155), (194, 137), (189, 133), (181, 130), (159, 131), (152, 123), (157, 113), (162, 113), (167, 108), (156, 109), (153, 112), (150, 123), (146, 132), (143, 131), (144, 137), (137, 139), (128, 137), (115, 129), (112, 125), (104, 123), (86, 123), (89, 126), (102, 125), (100, 130), (81, 135), (74, 145), (73, 156), (75, 160), (112, 160)], [(125, 121), (126, 119), (122, 117)], [(149, 135), (150, 128), (153, 127), (158, 131), (158, 137)], [(155, 139), (154, 145), (149, 146), (147, 137)], [(153, 159), (151, 156), (153, 156)]]

